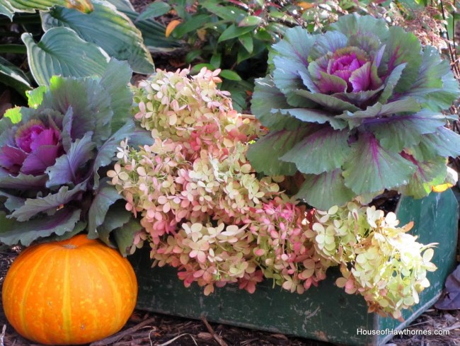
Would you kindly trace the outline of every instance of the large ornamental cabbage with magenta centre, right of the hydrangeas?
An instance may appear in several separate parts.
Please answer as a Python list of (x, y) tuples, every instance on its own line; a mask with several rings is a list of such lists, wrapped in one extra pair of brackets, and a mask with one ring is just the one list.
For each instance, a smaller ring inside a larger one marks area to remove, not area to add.
[(252, 113), (270, 132), (248, 151), (256, 171), (304, 177), (319, 209), (385, 189), (423, 197), (444, 182), (460, 136), (442, 110), (459, 96), (449, 62), (412, 33), (356, 14), (330, 31), (287, 30), (258, 79)]

